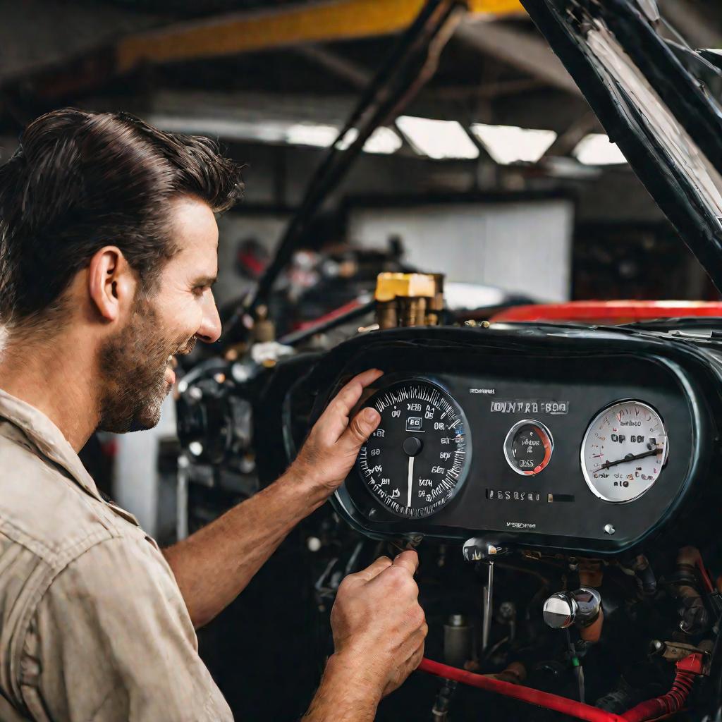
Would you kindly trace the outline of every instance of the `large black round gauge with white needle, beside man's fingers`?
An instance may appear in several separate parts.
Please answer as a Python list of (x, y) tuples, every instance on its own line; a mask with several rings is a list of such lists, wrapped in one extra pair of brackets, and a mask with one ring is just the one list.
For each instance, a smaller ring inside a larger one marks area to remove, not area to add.
[(358, 458), (367, 489), (399, 516), (422, 518), (440, 510), (469, 469), (469, 432), (461, 406), (422, 379), (394, 383), (364, 405), (381, 414)]

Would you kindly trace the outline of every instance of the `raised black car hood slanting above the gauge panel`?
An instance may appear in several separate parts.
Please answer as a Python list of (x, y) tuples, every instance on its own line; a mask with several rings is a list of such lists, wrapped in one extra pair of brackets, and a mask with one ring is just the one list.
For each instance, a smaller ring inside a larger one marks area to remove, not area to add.
[(655, 0), (521, 2), (722, 290), (719, 56), (670, 40)]

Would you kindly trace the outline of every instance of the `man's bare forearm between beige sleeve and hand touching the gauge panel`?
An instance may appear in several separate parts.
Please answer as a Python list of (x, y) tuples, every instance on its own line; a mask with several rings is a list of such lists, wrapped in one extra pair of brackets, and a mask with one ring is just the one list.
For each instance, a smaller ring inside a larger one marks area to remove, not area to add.
[(326, 495), (290, 469), (196, 534), (164, 549), (193, 625), (203, 626), (230, 604)]

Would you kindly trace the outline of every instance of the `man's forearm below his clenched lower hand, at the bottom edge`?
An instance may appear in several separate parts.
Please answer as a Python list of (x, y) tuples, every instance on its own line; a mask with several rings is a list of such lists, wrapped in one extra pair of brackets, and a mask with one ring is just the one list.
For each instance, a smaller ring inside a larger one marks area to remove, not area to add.
[(334, 654), (301, 722), (373, 722), (379, 701), (378, 682), (365, 679)]

